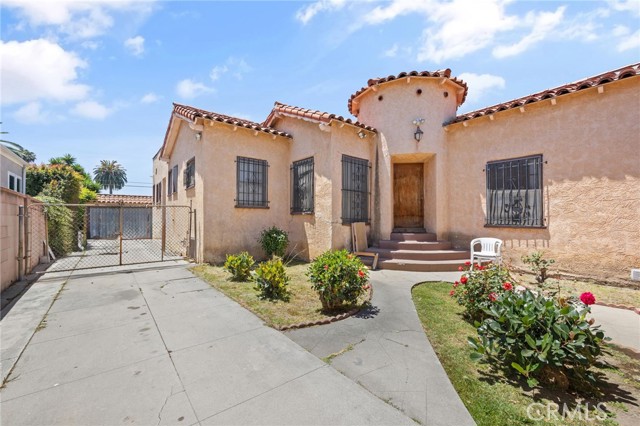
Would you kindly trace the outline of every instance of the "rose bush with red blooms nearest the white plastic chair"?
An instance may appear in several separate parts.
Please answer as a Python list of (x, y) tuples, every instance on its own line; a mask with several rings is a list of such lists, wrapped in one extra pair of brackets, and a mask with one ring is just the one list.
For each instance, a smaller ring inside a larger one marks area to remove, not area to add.
[[(467, 266), (469, 266), (467, 262)], [(465, 308), (465, 317), (472, 321), (482, 320), (484, 309), (489, 307), (492, 299), (505, 291), (510, 291), (509, 270), (493, 263), (486, 266), (478, 265), (472, 271), (462, 275), (460, 281), (453, 283), (451, 296), (455, 297), (459, 305)]]

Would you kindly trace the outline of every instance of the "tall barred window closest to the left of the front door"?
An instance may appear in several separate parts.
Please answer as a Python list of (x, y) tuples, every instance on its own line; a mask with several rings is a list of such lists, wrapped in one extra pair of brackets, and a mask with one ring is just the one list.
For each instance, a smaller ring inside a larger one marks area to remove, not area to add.
[(342, 156), (342, 223), (369, 222), (369, 161)]

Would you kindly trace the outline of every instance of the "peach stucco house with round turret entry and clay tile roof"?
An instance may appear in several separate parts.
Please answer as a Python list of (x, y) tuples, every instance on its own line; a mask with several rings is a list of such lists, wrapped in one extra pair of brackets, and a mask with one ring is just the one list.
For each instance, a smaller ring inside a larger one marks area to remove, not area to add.
[(457, 115), (467, 90), (448, 69), (372, 79), (348, 101), (359, 121), (276, 102), (254, 123), (174, 104), (155, 200), (193, 206), (197, 260), (260, 255), (272, 225), (314, 258), (349, 248), (363, 221), (383, 268), (457, 268), (471, 239), (492, 236), (516, 263), (544, 250), (563, 271), (628, 279), (640, 64)]

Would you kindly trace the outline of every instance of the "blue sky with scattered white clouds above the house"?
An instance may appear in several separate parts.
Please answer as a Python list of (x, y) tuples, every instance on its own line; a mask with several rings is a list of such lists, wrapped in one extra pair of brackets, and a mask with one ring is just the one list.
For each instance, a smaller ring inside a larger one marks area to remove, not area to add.
[[(349, 116), (370, 78), (451, 68), (472, 111), (640, 61), (640, 0), (3, 0), (6, 139), (151, 194), (172, 102), (262, 121), (274, 101)], [(148, 188), (147, 188), (148, 187)]]

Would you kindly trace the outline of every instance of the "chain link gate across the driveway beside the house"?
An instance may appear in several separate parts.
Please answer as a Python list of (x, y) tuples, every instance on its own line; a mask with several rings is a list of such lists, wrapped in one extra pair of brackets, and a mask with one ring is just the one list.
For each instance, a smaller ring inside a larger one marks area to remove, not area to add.
[[(27, 257), (55, 260), (48, 272), (178, 260), (195, 250), (189, 206), (38, 203), (27, 210)], [(40, 215), (46, 220), (30, 220)]]

